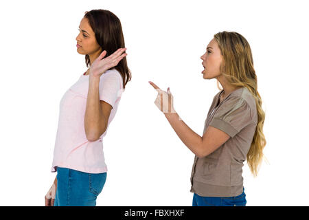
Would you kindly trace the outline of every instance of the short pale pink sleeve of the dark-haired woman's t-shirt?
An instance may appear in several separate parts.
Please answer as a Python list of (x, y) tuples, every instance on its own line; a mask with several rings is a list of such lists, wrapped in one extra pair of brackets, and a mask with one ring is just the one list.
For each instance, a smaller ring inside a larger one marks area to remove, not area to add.
[(119, 72), (111, 71), (102, 74), (99, 84), (100, 100), (111, 104), (112, 107), (122, 96), (122, 76)]

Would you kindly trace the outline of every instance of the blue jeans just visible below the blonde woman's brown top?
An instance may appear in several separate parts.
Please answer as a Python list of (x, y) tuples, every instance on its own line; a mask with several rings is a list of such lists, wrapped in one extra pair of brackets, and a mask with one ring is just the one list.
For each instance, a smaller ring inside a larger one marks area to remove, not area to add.
[(246, 194), (242, 190), (236, 197), (201, 197), (194, 193), (192, 206), (246, 206), (246, 203)]

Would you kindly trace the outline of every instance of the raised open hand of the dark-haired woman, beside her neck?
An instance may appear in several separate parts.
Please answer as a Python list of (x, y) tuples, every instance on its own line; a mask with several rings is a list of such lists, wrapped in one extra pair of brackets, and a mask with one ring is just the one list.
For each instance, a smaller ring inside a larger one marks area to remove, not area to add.
[(118, 65), (119, 61), (122, 60), (127, 54), (125, 53), (126, 48), (119, 48), (110, 56), (104, 58), (106, 50), (104, 50), (98, 58), (93, 61), (89, 69), (89, 76), (100, 77), (108, 69)]

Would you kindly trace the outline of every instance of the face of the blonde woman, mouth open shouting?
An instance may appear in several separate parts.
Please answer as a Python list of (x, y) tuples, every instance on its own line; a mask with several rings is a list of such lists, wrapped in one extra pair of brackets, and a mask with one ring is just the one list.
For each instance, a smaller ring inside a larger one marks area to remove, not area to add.
[(203, 78), (211, 79), (220, 76), (222, 54), (215, 39), (212, 39), (209, 42), (206, 52), (201, 56), (201, 59), (203, 60), (202, 65), (204, 67), (204, 70), (202, 71)]

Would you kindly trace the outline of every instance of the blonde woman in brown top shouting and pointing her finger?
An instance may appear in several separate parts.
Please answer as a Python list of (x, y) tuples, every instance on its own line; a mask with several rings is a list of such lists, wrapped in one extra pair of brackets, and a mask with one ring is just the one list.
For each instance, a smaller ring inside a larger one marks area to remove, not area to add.
[(242, 166), (247, 159), (257, 175), (266, 145), (251, 48), (241, 34), (218, 32), (201, 59), (203, 78), (216, 78), (223, 87), (211, 103), (202, 137), (179, 118), (170, 88), (166, 92), (149, 82), (158, 91), (155, 104), (195, 155), (192, 206), (245, 206)]

